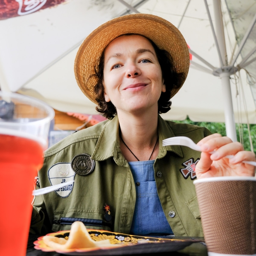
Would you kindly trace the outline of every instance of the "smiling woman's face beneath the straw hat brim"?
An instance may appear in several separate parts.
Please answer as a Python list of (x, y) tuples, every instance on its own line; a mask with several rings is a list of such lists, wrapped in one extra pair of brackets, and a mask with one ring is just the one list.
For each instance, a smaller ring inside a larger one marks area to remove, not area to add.
[(117, 112), (156, 108), (163, 84), (160, 64), (153, 46), (141, 35), (122, 35), (105, 49), (105, 100)]

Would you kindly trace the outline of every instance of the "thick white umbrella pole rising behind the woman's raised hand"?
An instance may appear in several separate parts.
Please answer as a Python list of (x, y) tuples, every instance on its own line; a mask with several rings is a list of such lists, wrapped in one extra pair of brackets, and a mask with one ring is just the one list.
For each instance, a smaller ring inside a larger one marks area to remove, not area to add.
[(214, 9), (215, 25), (216, 25), (216, 38), (218, 41), (220, 54), (221, 54), (220, 63), (224, 64), (224, 67), (221, 68), (221, 73), (219, 74), (219, 76), (221, 78), (221, 87), (222, 87), (223, 100), (224, 100), (226, 133), (227, 133), (227, 137), (229, 137), (233, 142), (235, 142), (237, 141), (236, 124), (234, 119), (233, 102), (232, 102), (231, 88), (230, 88), (230, 75), (232, 73), (228, 72), (228, 70), (231, 71), (231, 69), (230, 67), (227, 67), (227, 51), (226, 51), (226, 43), (225, 43), (225, 37), (224, 37), (222, 12), (221, 12), (221, 0), (213, 1), (213, 9)]

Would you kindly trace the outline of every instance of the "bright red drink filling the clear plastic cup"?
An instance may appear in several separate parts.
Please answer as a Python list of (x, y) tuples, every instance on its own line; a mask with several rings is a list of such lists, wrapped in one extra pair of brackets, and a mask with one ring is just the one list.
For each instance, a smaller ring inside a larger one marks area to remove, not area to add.
[(26, 255), (34, 178), (43, 164), (41, 143), (17, 136), (0, 134), (1, 256)]

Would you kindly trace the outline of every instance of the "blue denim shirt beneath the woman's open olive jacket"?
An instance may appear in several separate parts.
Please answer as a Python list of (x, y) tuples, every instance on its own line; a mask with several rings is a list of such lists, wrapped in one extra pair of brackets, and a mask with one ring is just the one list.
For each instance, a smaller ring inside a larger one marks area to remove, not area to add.
[[(128, 162), (136, 184), (131, 234), (173, 234), (163, 212), (154, 179), (154, 160)], [(137, 186), (139, 183), (140, 186)]]

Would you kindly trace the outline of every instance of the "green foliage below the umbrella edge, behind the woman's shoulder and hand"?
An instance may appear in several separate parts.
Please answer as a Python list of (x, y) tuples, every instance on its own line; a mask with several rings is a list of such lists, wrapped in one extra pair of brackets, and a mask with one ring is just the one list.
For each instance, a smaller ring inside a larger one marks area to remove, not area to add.
[[(222, 136), (226, 136), (226, 126), (223, 122), (193, 122), (189, 119), (189, 117), (187, 117), (186, 120), (174, 122), (204, 126), (212, 133), (218, 133)], [(244, 150), (250, 151), (251, 149), (247, 124), (240, 124), (240, 132), (239, 125), (236, 124), (236, 134), (237, 141), (240, 141), (243, 144)], [(253, 142), (253, 151), (256, 154), (256, 125), (250, 125), (250, 134)]]

